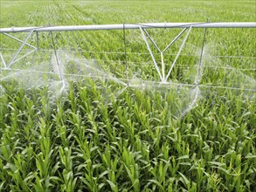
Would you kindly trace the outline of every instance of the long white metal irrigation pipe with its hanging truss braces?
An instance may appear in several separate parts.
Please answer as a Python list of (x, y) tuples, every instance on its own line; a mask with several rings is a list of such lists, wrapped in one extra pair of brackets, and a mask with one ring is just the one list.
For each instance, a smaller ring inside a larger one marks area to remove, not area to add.
[[(181, 29), (180, 33), (173, 38), (170, 41), (170, 44), (167, 45), (163, 50), (160, 50), (160, 48), (156, 45), (156, 42), (149, 36), (149, 33), (147, 29), (150, 28), (179, 28)], [(152, 58), (153, 64), (155, 65), (156, 71), (159, 75), (159, 78), (161, 79), (162, 83), (166, 83), (167, 80), (170, 78), (170, 74), (176, 64), (177, 58), (180, 56), (181, 51), (183, 50), (183, 46), (185, 45), (185, 42), (187, 38), (190, 35), (190, 31), (193, 28), (204, 28), (204, 38), (207, 28), (256, 28), (256, 22), (234, 22), (234, 23), (148, 23), (148, 24), (97, 24), (97, 25), (72, 25), (72, 26), (39, 26), (39, 27), (11, 27), (11, 28), (2, 28), (0, 29), (0, 33), (3, 35), (13, 38), (21, 43), (17, 51), (14, 53), (10, 61), (5, 61), (3, 58), (3, 54), (0, 52), (0, 58), (3, 61), (4, 68), (3, 69), (10, 69), (11, 65), (13, 65), (15, 62), (20, 60), (21, 58), (26, 57), (27, 55), (31, 54), (33, 51), (38, 50), (38, 45), (30, 45), (28, 42), (28, 39), (31, 38), (31, 35), (33, 33), (37, 34), (37, 43), (38, 43), (38, 33), (39, 32), (52, 32), (52, 31), (98, 31), (98, 30), (140, 30), (142, 33), (142, 38), (147, 45), (147, 48), (149, 50), (149, 54)], [(20, 33), (20, 32), (26, 32), (27, 35), (22, 39), (15, 38), (14, 36), (10, 35), (10, 33)], [(183, 33), (185, 35), (183, 35)], [(170, 46), (173, 45), (177, 39), (179, 39), (181, 36), (184, 36), (181, 46), (179, 47), (179, 50), (176, 53), (175, 59), (172, 61), (172, 64), (170, 65), (170, 69), (166, 71), (166, 65), (164, 64), (164, 52), (170, 49)], [(161, 64), (157, 65), (156, 58), (154, 57), (153, 51), (151, 50), (149, 46), (149, 42), (151, 42), (155, 47), (156, 50), (161, 55)], [(28, 45), (32, 48), (31, 51), (25, 53), (23, 56), (20, 56), (17, 58), (21, 50), (24, 48), (24, 45)], [(204, 40), (201, 50), (201, 58), (200, 62), (198, 64), (198, 72), (197, 76), (200, 79), (201, 76), (201, 65), (202, 65), (202, 55), (204, 49)], [(56, 56), (57, 57), (57, 56)], [(159, 67), (160, 66), (160, 67)], [(61, 75), (60, 75), (61, 76)], [(198, 83), (198, 82), (197, 82)]]

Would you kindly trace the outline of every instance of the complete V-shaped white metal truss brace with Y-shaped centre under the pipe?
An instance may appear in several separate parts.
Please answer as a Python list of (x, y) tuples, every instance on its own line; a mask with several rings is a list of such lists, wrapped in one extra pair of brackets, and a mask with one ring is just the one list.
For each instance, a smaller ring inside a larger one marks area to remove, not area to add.
[[(179, 57), (181, 51), (183, 50), (183, 46), (184, 46), (184, 44), (185, 44), (187, 38), (189, 37), (190, 31), (191, 31), (191, 29), (192, 29), (192, 25), (190, 25), (189, 31), (187, 32), (185, 38), (183, 38), (182, 45), (180, 46), (180, 49), (179, 49), (179, 51), (178, 51), (177, 54), (176, 54), (176, 58), (174, 59), (172, 65), (170, 66), (170, 70), (169, 70), (169, 72), (167, 73), (166, 76), (165, 76), (165, 64), (164, 64), (164, 60), (163, 60), (163, 53), (164, 53), (165, 51), (167, 51), (167, 50), (170, 48), (170, 46), (173, 45), (173, 44), (176, 42), (176, 40), (177, 40), (178, 38), (180, 38), (180, 37), (183, 35), (184, 31), (186, 31), (187, 29), (188, 29), (188, 28), (184, 28), (183, 31), (181, 31), (181, 32), (176, 36), (176, 38), (174, 38), (174, 39), (170, 42), (170, 44), (167, 45), (167, 46), (163, 49), (163, 51), (161, 51), (161, 50), (159, 49), (159, 47), (156, 45), (156, 42), (153, 40), (153, 38), (150, 37), (148, 31), (146, 31), (146, 29), (140, 27), (140, 31), (142, 32), (142, 38), (143, 38), (143, 40), (145, 41), (145, 43), (146, 43), (146, 45), (147, 45), (147, 48), (148, 48), (149, 53), (150, 53), (150, 56), (151, 56), (151, 58), (152, 58), (152, 60), (153, 60), (153, 63), (154, 63), (154, 65), (155, 65), (155, 67), (156, 67), (156, 71), (158, 72), (158, 75), (159, 75), (159, 77), (160, 77), (160, 79), (161, 79), (161, 81), (162, 81), (163, 83), (166, 83), (166, 82), (167, 82), (167, 79), (169, 79), (169, 77), (170, 77), (170, 72), (172, 71), (174, 65), (176, 64), (176, 60), (177, 60), (177, 58)], [(146, 35), (145, 35), (145, 34), (146, 34)], [(157, 63), (156, 63), (156, 58), (154, 57), (154, 54), (153, 54), (153, 52), (151, 51), (151, 49), (150, 49), (150, 47), (149, 47), (149, 42), (148, 42), (146, 36), (149, 38), (150, 42), (156, 47), (156, 50), (159, 51), (159, 53), (160, 53), (160, 55), (161, 55), (162, 72), (160, 71), (160, 68), (159, 68), (159, 66), (158, 66)]]

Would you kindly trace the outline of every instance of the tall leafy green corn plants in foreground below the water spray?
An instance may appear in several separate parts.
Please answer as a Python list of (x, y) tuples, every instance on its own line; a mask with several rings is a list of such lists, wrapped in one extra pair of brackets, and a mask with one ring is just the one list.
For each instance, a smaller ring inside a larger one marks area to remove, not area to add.
[(9, 85), (1, 98), (9, 103), (1, 106), (3, 190), (253, 190), (252, 101), (211, 93), (175, 120), (166, 118), (171, 93), (128, 88), (116, 97), (113, 83), (83, 85), (53, 106), (46, 88)]

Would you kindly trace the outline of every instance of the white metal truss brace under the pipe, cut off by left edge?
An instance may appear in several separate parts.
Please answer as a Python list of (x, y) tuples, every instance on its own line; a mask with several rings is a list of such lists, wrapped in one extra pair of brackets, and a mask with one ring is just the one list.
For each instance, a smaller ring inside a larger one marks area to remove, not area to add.
[[(15, 38), (7, 33), (3, 33), (4, 35), (8, 36), (9, 38), (13, 38), (15, 40), (17, 40), (18, 42), (21, 42), (22, 45), (19, 46), (19, 48), (17, 49), (16, 53), (13, 55), (13, 57), (10, 59), (10, 62), (7, 64), (4, 59), (3, 59), (3, 55), (2, 53), (0, 53), (0, 58), (2, 59), (3, 61), (3, 65), (4, 65), (4, 68), (6, 69), (10, 69), (10, 65), (14, 64), (15, 62), (17, 62), (18, 60), (20, 60), (21, 58), (24, 58), (26, 57), (27, 55), (31, 54), (33, 51), (36, 51), (38, 48), (33, 46), (33, 45), (30, 45), (27, 43), (28, 39), (31, 38), (31, 35), (33, 33), (34, 30), (31, 30), (28, 35), (26, 36), (26, 38), (24, 38), (24, 40), (20, 40), (18, 38)], [(31, 48), (33, 48), (33, 50), (27, 52), (26, 54), (24, 54), (23, 56), (21, 56), (20, 58), (17, 58), (17, 55), (20, 53), (20, 51), (22, 50), (22, 48), (24, 47), (24, 45), (28, 45), (30, 46)]]

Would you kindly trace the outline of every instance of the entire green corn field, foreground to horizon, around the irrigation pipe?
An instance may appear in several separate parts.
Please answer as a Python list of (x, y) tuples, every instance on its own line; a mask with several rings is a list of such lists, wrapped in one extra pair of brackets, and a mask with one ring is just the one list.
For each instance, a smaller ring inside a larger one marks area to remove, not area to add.
[[(0, 5), (1, 28), (255, 22), (256, 9), (254, 1), (2, 0)], [(149, 33), (163, 49), (179, 31)], [(23, 33), (13, 35), (25, 38)], [(38, 34), (38, 52), (13, 65), (28, 71), (1, 69), (0, 191), (256, 190), (256, 93), (223, 88), (255, 89), (255, 29), (207, 30), (200, 79), (204, 87), (191, 107), (197, 89), (158, 85), (140, 31), (126, 31), (126, 57), (123, 31), (52, 35), (70, 73), (99, 77), (71, 77), (68, 88), (59, 93), (59, 81), (52, 80), (58, 76), (31, 71), (51, 68), (53, 53), (48, 50), (53, 44), (47, 32)], [(171, 82), (194, 82), (203, 36), (204, 29), (192, 29)], [(8, 60), (20, 44), (3, 34), (0, 40)], [(36, 42), (32, 35), (29, 43)], [(167, 66), (179, 45), (181, 40), (166, 52)], [(85, 59), (90, 71), (83, 68)], [(50, 65), (39, 65), (47, 62)], [(103, 72), (116, 78), (101, 79)], [(52, 81), (47, 81), (50, 76)], [(119, 81), (126, 78), (137, 87)], [(142, 80), (154, 85), (142, 86)], [(211, 84), (222, 88), (206, 87)]]

